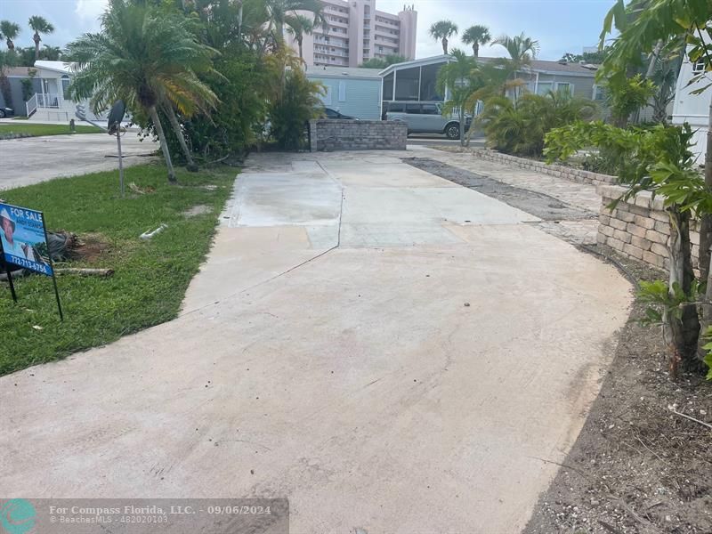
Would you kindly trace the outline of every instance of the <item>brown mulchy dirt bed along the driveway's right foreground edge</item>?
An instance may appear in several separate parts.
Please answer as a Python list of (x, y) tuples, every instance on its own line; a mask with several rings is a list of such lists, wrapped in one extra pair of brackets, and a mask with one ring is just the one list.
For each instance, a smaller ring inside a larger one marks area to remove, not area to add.
[[(635, 279), (664, 277), (615, 256)], [(659, 331), (636, 303), (587, 422), (524, 534), (712, 532), (712, 384), (667, 377)]]

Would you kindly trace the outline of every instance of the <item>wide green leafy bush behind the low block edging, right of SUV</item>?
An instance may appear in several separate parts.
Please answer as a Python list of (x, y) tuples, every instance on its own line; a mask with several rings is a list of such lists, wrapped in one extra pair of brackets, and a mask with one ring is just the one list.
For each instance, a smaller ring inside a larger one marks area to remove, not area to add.
[(595, 103), (567, 93), (525, 94), (516, 101), (495, 96), (485, 102), (478, 122), (490, 148), (521, 156), (541, 156), (553, 128), (593, 118)]

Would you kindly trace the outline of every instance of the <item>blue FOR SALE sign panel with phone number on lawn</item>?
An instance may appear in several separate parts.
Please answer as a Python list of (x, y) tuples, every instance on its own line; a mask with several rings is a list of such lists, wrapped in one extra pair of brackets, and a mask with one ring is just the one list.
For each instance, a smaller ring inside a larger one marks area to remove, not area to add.
[(52, 276), (42, 212), (0, 203), (0, 245), (4, 261)]

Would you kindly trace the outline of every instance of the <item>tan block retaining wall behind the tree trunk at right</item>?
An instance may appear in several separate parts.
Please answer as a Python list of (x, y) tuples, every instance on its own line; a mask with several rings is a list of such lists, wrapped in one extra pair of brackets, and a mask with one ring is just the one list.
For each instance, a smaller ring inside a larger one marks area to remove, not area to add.
[[(662, 198), (652, 198), (651, 193), (643, 191), (625, 202), (621, 200), (616, 209), (611, 211), (606, 206), (620, 198), (626, 190), (615, 185), (603, 185), (598, 186), (596, 191), (602, 199), (598, 242), (608, 245), (622, 255), (659, 269), (667, 269), (670, 223)], [(696, 221), (690, 223), (690, 240), (692, 264), (696, 268), (700, 250), (700, 234)]]

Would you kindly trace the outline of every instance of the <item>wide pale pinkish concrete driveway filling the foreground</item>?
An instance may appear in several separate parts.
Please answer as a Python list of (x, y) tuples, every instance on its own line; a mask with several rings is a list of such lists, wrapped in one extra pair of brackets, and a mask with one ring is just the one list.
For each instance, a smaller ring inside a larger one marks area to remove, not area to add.
[(179, 319), (0, 379), (4, 493), (287, 497), (295, 534), (520, 531), (630, 288), (395, 156), (251, 158)]

